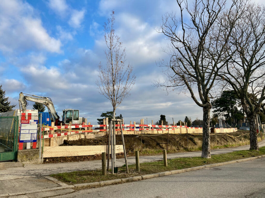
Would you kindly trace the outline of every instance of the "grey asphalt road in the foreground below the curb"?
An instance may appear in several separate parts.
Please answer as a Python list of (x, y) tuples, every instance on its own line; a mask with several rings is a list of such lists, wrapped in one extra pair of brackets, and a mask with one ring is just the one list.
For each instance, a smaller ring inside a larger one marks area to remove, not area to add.
[(85, 189), (72, 197), (265, 197), (265, 158), (131, 183)]

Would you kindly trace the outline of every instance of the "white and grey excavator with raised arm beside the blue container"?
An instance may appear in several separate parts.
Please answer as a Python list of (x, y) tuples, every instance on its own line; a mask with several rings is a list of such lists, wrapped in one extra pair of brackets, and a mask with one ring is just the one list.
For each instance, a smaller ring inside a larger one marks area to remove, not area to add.
[[(24, 96), (24, 94), (28, 96)], [(55, 126), (58, 126), (61, 122), (63, 125), (68, 125), (69, 122), (72, 122), (73, 125), (82, 125), (85, 122), (85, 118), (79, 117), (79, 110), (76, 109), (64, 109), (63, 120), (60, 121), (60, 116), (56, 113), (51, 98), (48, 97), (36, 96), (20, 92), (18, 101), (20, 112), (22, 110), (23, 113), (25, 113), (27, 110), (27, 101), (38, 102), (45, 105), (49, 111), (51, 121), (55, 122)]]

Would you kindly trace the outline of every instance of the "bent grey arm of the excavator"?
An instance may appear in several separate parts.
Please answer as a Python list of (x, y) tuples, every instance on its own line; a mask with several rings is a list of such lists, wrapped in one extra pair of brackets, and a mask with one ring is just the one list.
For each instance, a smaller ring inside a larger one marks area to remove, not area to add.
[[(24, 93), (24, 94), (26, 94), (26, 93)], [(19, 94), (19, 109), (20, 109), (20, 111), (22, 110), (23, 113), (26, 112), (26, 110), (27, 110), (26, 107), (28, 105), (27, 101), (38, 102), (38, 103), (41, 103), (47, 107), (49, 114), (51, 116), (52, 122), (56, 122), (56, 123), (59, 122), (60, 117), (55, 111), (55, 108), (54, 108), (54, 105), (51, 101), (51, 98), (42, 97), (42, 96), (35, 96), (35, 95), (30, 95), (30, 94), (27, 94), (30, 96), (24, 96), (24, 94), (22, 92)]]

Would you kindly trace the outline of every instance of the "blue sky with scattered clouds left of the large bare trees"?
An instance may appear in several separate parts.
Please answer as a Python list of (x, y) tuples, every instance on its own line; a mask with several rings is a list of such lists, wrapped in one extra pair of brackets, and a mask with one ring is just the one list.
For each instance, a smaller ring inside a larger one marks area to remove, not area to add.
[(136, 76), (116, 115), (122, 114), (125, 124), (156, 122), (161, 114), (171, 123), (185, 116), (202, 119), (202, 108), (188, 93), (167, 95), (154, 86), (165, 79), (159, 61), (169, 59), (163, 51), (169, 41), (157, 28), (164, 13), (178, 15), (175, 0), (0, 1), (0, 84), (11, 105), (19, 109), (20, 92), (50, 97), (59, 115), (63, 109), (79, 109), (91, 124), (112, 111), (95, 84), (98, 64), (106, 60), (103, 25), (112, 10), (126, 64), (133, 65)]

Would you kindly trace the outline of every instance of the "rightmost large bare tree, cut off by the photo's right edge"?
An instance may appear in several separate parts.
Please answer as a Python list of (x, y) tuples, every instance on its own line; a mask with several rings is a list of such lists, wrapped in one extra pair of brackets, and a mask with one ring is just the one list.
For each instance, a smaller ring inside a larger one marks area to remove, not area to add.
[(255, 121), (265, 100), (265, 6), (246, 3), (241, 12), (228, 42), (225, 57), (230, 60), (219, 76), (240, 99), (250, 122), (250, 150), (258, 150)]

